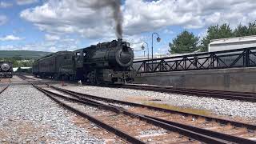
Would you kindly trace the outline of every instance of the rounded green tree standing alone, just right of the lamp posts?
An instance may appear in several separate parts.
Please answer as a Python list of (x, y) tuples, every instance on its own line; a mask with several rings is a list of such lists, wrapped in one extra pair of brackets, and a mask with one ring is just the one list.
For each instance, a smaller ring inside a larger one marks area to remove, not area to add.
[(178, 34), (177, 38), (174, 38), (172, 43), (169, 44), (169, 52), (171, 54), (193, 52), (198, 50), (198, 41), (199, 37), (196, 37), (193, 33), (184, 30), (181, 34)]

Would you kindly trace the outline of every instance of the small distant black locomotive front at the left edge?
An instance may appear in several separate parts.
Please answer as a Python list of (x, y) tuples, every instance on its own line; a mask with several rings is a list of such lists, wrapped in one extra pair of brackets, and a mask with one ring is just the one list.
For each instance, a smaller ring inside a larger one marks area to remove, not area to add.
[(12, 62), (0, 62), (0, 78), (13, 78)]

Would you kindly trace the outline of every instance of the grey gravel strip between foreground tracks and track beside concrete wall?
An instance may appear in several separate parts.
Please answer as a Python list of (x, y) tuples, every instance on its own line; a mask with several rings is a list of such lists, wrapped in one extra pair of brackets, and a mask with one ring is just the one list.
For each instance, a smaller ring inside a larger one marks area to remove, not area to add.
[[(59, 86), (59, 85), (58, 85)], [(92, 94), (105, 98), (114, 98), (130, 102), (153, 102), (150, 100), (159, 99), (157, 103), (194, 108), (199, 110), (210, 110), (213, 114), (226, 115), (229, 117), (256, 118), (256, 105), (253, 102), (241, 102), (219, 98), (202, 98), (182, 94), (166, 94), (154, 91), (131, 90), (123, 88), (110, 88), (99, 86), (60, 86), (67, 90), (78, 91), (85, 94)]]

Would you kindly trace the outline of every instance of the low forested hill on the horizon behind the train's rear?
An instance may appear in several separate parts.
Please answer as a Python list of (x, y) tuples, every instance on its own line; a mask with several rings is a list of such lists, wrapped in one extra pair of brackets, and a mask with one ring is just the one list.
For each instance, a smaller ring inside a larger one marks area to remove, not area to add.
[(51, 53), (44, 52), (44, 51), (32, 51), (32, 50), (0, 50), (0, 58), (38, 59), (48, 54), (51, 54)]

